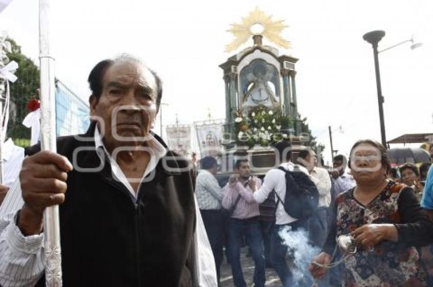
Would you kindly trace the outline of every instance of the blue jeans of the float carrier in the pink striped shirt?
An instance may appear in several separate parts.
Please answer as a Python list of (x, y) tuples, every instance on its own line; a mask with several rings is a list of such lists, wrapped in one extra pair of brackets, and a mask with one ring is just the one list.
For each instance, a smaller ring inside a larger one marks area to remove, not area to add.
[(257, 217), (249, 219), (230, 219), (228, 255), (232, 267), (233, 282), (236, 287), (246, 287), (247, 283), (243, 279), (242, 267), (240, 266), (240, 247), (242, 237), (245, 236), (247, 245), (250, 247), (254, 269), (254, 285), (264, 286), (265, 283), (265, 261), (263, 255), (263, 239), (260, 230), (260, 222)]

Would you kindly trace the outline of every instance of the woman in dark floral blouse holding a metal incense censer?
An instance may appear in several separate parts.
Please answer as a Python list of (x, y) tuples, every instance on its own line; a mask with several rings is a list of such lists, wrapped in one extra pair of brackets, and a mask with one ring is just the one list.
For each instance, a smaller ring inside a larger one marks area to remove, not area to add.
[(320, 280), (339, 260), (332, 254), (340, 248), (340, 236), (351, 236), (356, 251), (342, 251), (347, 256), (341, 262), (343, 286), (427, 285), (415, 246), (433, 241), (433, 225), (412, 188), (387, 179), (389, 158), (375, 140), (355, 143), (349, 167), (357, 186), (336, 199), (327, 243), (310, 265), (313, 277)]

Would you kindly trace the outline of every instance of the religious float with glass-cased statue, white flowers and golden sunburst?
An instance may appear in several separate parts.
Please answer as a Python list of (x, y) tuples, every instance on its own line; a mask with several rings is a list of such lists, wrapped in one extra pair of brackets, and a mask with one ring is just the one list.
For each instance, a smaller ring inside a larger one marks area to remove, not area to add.
[[(234, 170), (237, 159), (247, 158), (254, 174), (263, 176), (276, 166), (273, 144), (292, 143), (293, 157), (305, 147), (315, 146), (296, 100), (295, 63), (277, 48), (263, 45), (263, 38), (281, 48), (290, 43), (281, 37), (283, 20), (256, 8), (240, 24), (231, 24), (235, 39), (226, 47), (235, 51), (252, 37), (254, 44), (230, 56), (220, 65), (225, 82), (226, 118), (218, 155), (220, 176)], [(319, 154), (319, 153), (318, 153)]]

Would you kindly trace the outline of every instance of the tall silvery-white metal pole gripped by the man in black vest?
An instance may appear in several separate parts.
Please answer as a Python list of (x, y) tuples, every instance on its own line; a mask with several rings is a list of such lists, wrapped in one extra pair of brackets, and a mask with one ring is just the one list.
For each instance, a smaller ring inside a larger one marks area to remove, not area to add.
[[(41, 74), (41, 149), (56, 152), (54, 59), (49, 50), (49, 0), (39, 0), (39, 60)], [(45, 279), (47, 287), (62, 286), (59, 206), (44, 212)]]

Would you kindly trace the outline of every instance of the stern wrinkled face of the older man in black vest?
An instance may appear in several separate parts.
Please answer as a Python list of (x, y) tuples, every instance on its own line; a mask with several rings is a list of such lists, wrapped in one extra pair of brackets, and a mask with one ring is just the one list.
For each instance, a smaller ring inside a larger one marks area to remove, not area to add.
[(102, 93), (90, 100), (91, 115), (100, 117), (108, 148), (142, 145), (156, 116), (156, 81), (138, 63), (121, 62), (108, 68)]

